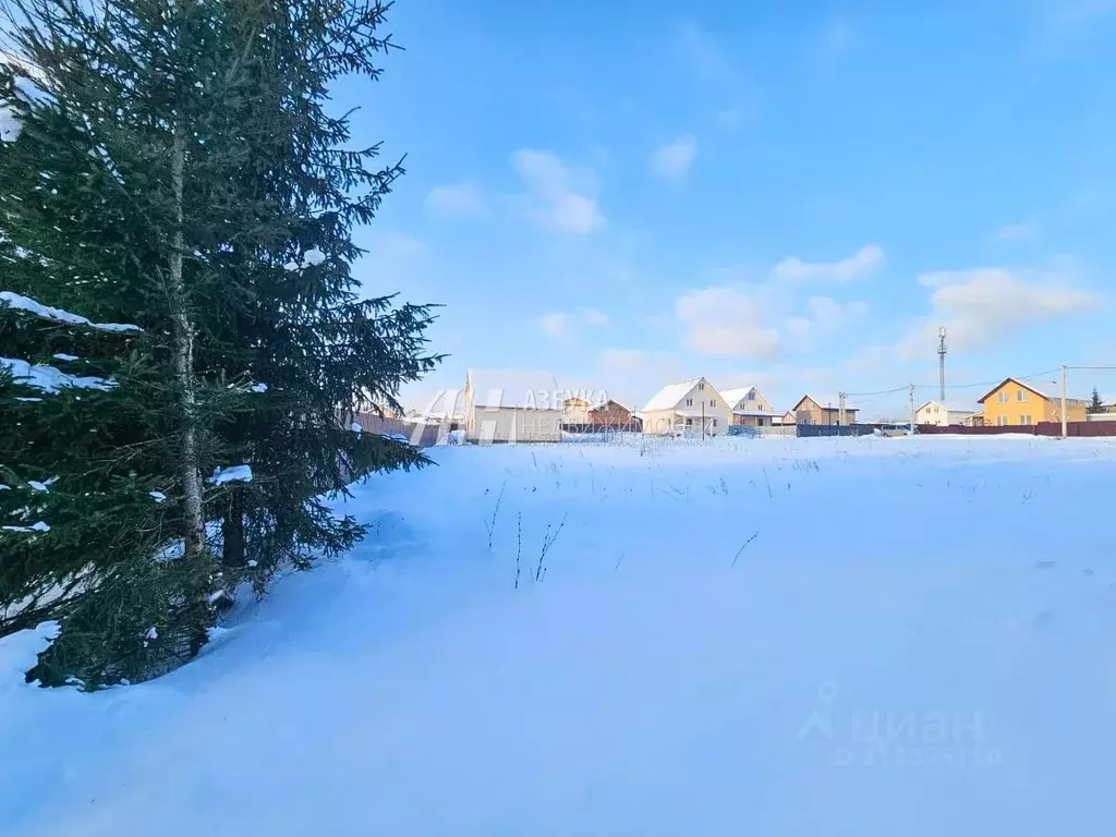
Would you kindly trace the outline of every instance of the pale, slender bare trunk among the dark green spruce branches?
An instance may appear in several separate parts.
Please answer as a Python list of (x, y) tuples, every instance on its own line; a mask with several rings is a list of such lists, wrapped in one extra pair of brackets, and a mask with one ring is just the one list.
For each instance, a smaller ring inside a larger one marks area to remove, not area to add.
[(198, 562), (205, 554), (205, 522), (202, 518), (202, 483), (198, 471), (198, 394), (194, 388), (194, 329), (189, 296), (182, 278), (183, 181), (185, 138), (181, 125), (174, 127), (171, 152), (171, 186), (174, 190), (175, 228), (171, 250), (171, 296), (174, 305), (174, 374), (182, 398), (183, 432), (180, 469), (185, 494), (185, 558)]

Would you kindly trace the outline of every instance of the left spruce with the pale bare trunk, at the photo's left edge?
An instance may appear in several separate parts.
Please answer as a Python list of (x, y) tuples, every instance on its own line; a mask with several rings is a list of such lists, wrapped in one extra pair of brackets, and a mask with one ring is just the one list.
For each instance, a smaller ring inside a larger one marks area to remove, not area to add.
[[(0, 109), (16, 126), (0, 143), (0, 290), (140, 324), (144, 335), (142, 349), (100, 343), (95, 355), (61, 352), (80, 358), (67, 363), (112, 375), (110, 393), (90, 401), (64, 386), (42, 402), (17, 401), (31, 381), (22, 360), (59, 350), (41, 343), (49, 337), (41, 324), (11, 319), (26, 319), (26, 306), (4, 315), (0, 355), (17, 360), (4, 410), (19, 415), (4, 422), (15, 432), (3, 466), (21, 485), (58, 477), (38, 493), (69, 506), (54, 510), (67, 526), (45, 519), (49, 532), (17, 551), (4, 545), (0, 606), (25, 622), (61, 622), (36, 670), (44, 682), (150, 676), (195, 653), (214, 620), (201, 474), (222, 456), (211, 427), (238, 405), (195, 359), (203, 289), (215, 282), (192, 267), (190, 244), (209, 208), (190, 126), (204, 125), (205, 108), (179, 65), (209, 42), (208, 29), (164, 2), (6, 0), (0, 9), (6, 40), (20, 54), (0, 60)], [(22, 354), (9, 354), (20, 344)], [(148, 491), (167, 501), (153, 510)], [(134, 517), (137, 502), (146, 503), (143, 519)], [(176, 543), (182, 557), (162, 560)], [(89, 577), (59, 597), (75, 560)], [(45, 595), (29, 606), (35, 590)]]

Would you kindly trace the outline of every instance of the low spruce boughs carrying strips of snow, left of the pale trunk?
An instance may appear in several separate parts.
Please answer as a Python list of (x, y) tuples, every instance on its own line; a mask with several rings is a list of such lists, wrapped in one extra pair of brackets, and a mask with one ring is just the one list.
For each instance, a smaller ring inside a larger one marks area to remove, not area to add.
[[(28, 258), (0, 248), (6, 278)], [(208, 578), (153, 560), (174, 528), (161, 491), (174, 474), (147, 343), (0, 292), (0, 634), (62, 623), (44, 682), (140, 679), (204, 638)]]

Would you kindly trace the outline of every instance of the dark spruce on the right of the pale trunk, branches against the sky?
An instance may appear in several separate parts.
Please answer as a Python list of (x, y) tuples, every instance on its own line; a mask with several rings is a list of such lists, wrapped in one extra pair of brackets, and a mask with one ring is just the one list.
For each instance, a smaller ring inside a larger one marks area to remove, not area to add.
[[(221, 328), (200, 350), (230, 382), (264, 391), (249, 414), (219, 429), (254, 479), (217, 502), (225, 584), (248, 577), (260, 588), (277, 568), (363, 536), (324, 496), (371, 471), (425, 462), (405, 443), (354, 433), (352, 422), (358, 408), (394, 403), (439, 358), (426, 350), (429, 307), (363, 299), (350, 273), (362, 256), (353, 227), (373, 219), (402, 169), (375, 167), (376, 146), (348, 150), (347, 118), (327, 113), (327, 90), (346, 74), (378, 75), (385, 7), (277, 0), (221, 9), (237, 81), (220, 94), (222, 126), (205, 147), (228, 166), (221, 200), (251, 219), (214, 228), (203, 246), (238, 292), (219, 295)], [(232, 76), (222, 66), (214, 78)]]

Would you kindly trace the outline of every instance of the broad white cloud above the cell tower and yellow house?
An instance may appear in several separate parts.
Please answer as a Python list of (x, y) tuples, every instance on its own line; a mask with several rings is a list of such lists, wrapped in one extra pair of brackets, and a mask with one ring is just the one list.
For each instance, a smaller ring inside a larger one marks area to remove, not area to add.
[(979, 350), (1029, 325), (1100, 301), (1097, 295), (1071, 287), (1062, 275), (1010, 268), (939, 271), (924, 273), (918, 281), (934, 289), (932, 312), (897, 344), (904, 358), (931, 352), (940, 326), (945, 326), (952, 350)]

